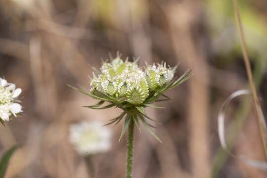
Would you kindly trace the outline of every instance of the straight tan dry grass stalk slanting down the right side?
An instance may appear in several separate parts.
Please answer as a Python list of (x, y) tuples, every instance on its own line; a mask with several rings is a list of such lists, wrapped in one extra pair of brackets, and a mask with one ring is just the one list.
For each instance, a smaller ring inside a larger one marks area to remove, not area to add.
[(263, 114), (262, 114), (261, 105), (259, 103), (259, 98), (257, 96), (257, 91), (256, 91), (256, 88), (255, 88), (255, 85), (254, 85), (254, 81), (253, 81), (253, 76), (252, 76), (252, 71), (251, 71), (251, 64), (250, 64), (250, 60), (249, 60), (249, 57), (248, 57), (247, 47), (246, 47), (246, 43), (245, 43), (245, 36), (244, 36), (244, 31), (243, 31), (243, 27), (242, 27), (242, 23), (241, 23), (241, 18), (240, 18), (240, 13), (239, 13), (239, 9), (238, 9), (237, 0), (233, 0), (233, 5), (234, 5), (234, 12), (235, 12), (236, 21), (237, 21), (238, 33), (239, 33), (240, 40), (241, 40), (241, 47), (242, 47), (242, 51), (243, 51), (243, 56), (244, 56), (244, 62), (245, 62), (245, 66), (246, 66), (247, 76), (248, 76), (248, 79), (249, 79), (250, 89), (252, 91), (255, 114), (256, 114), (256, 117), (258, 118), (258, 122), (259, 122), (259, 125), (260, 125), (260, 131), (261, 131), (262, 141), (263, 141), (264, 150), (265, 150), (265, 156), (266, 156), (266, 159), (267, 159), (267, 128), (266, 128), (266, 122), (265, 122), (265, 119), (264, 119)]

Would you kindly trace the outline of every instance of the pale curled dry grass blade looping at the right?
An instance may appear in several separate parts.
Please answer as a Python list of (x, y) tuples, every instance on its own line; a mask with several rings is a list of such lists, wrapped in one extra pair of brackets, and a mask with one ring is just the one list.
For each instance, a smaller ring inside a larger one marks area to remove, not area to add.
[(224, 130), (224, 120), (225, 120), (225, 112), (226, 112), (226, 108), (228, 106), (228, 104), (230, 103), (230, 101), (232, 99), (234, 99), (237, 96), (241, 96), (241, 95), (250, 95), (250, 91), (247, 89), (241, 89), (238, 91), (235, 91), (234, 93), (232, 93), (223, 103), (219, 115), (218, 115), (218, 132), (219, 132), (219, 139), (220, 142), (222, 144), (222, 147), (224, 150), (228, 151), (230, 153), (230, 155), (242, 160), (243, 162), (245, 162), (247, 165), (252, 166), (256, 169), (262, 170), (262, 171), (267, 171), (267, 162), (264, 161), (256, 161), (256, 160), (252, 160), (249, 158), (246, 158), (245, 156), (237, 156), (234, 155), (230, 149), (227, 146), (226, 143), (226, 139), (225, 139), (225, 130)]

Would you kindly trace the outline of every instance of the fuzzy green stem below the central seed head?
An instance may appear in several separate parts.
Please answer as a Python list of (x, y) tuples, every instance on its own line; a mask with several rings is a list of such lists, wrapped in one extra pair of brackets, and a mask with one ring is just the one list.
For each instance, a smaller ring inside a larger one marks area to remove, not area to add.
[(129, 129), (128, 129), (126, 178), (132, 178), (133, 149), (134, 149), (134, 117), (131, 118)]

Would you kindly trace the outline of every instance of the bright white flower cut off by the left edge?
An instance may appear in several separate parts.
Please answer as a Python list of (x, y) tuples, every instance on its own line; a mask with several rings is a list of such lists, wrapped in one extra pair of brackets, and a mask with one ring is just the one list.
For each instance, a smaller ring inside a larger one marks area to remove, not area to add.
[(16, 98), (20, 95), (21, 89), (16, 89), (14, 84), (7, 83), (0, 78), (0, 119), (9, 121), (10, 117), (22, 112), (20, 104), (16, 103)]

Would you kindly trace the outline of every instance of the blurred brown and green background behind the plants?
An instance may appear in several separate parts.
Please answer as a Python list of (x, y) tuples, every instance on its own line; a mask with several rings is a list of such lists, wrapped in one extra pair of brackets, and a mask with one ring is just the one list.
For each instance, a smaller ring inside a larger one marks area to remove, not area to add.
[[(239, 0), (255, 84), (267, 114), (267, 1)], [(89, 178), (87, 162), (69, 141), (80, 121), (107, 123), (119, 109), (90, 110), (96, 101), (69, 88), (89, 89), (93, 67), (109, 53), (166, 61), (193, 76), (148, 109), (162, 123), (135, 132), (134, 178), (266, 178), (265, 172), (222, 150), (217, 116), (232, 92), (247, 88), (231, 0), (0, 0), (0, 77), (15, 83), (22, 116), (0, 127), (0, 154), (18, 143), (6, 178)], [(229, 147), (264, 160), (251, 100), (227, 110)], [(126, 139), (112, 128), (109, 151), (90, 156), (95, 178), (124, 178)]]

